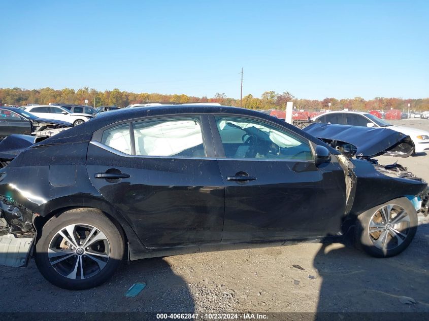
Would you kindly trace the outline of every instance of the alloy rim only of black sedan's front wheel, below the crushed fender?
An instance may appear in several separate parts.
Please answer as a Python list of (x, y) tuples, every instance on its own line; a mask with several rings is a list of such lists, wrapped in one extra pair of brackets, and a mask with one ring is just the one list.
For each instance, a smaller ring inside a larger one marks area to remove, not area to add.
[(377, 209), (370, 219), (368, 235), (377, 248), (387, 251), (400, 246), (408, 237), (410, 216), (399, 206), (388, 204)]

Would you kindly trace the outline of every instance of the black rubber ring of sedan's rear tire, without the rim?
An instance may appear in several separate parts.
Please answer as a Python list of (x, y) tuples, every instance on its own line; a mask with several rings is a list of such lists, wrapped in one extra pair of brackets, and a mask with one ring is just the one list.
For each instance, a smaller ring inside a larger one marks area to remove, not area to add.
[[(89, 214), (89, 215), (88, 215)], [(87, 224), (102, 231), (110, 246), (110, 258), (106, 266), (98, 274), (87, 279), (69, 279), (60, 275), (50, 264), (48, 248), (55, 234), (71, 224)], [(123, 257), (123, 240), (115, 225), (104, 215), (93, 212), (64, 212), (49, 220), (42, 229), (42, 234), (35, 247), (35, 261), (42, 275), (55, 286), (69, 290), (83, 290), (96, 287), (107, 281), (118, 268)]]

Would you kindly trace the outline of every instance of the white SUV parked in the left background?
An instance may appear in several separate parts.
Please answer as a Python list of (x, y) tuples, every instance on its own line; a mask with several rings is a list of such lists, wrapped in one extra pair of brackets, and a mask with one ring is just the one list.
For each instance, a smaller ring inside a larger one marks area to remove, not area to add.
[(71, 113), (69, 110), (55, 105), (25, 106), (25, 111), (40, 118), (69, 122), (73, 126), (83, 124), (94, 117), (94, 115)]

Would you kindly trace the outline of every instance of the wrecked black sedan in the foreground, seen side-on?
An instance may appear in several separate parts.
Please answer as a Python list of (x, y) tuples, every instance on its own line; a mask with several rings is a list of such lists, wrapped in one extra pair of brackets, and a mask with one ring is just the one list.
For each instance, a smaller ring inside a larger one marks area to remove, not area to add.
[[(224, 106), (103, 113), (0, 173), (8, 233), (32, 237), (58, 287), (105, 282), (123, 259), (336, 241), (401, 253), (427, 185), (350, 160), (271, 116)], [(30, 251), (30, 249), (28, 249)]]

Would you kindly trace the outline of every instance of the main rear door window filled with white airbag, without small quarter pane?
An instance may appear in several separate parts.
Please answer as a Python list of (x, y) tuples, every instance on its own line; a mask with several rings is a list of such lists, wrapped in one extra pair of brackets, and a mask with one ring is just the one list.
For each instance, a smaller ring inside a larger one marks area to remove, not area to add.
[(197, 118), (172, 118), (133, 123), (136, 155), (205, 157)]

